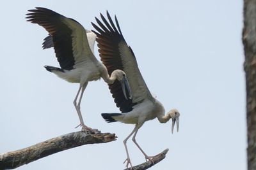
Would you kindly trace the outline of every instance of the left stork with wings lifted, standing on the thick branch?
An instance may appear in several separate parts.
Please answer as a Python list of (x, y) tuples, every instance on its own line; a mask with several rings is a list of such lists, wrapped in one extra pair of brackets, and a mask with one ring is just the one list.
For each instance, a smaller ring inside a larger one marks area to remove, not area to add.
[[(131, 98), (129, 83), (124, 71), (116, 69), (109, 77), (106, 67), (93, 55), (96, 36), (93, 32), (86, 31), (76, 20), (64, 17), (47, 8), (38, 7), (35, 10), (29, 10), (26, 15), (28, 15), (26, 17), (28, 22), (38, 24), (49, 32), (50, 36), (45, 38), (44, 48), (54, 47), (60, 68), (45, 66), (45, 69), (68, 82), (80, 83), (74, 99), (74, 106), (79, 116), (79, 125), (81, 125), (83, 131), (92, 131), (90, 127), (84, 125), (80, 110), (81, 99), (88, 81), (103, 78), (110, 85), (118, 80), (122, 85), (125, 99)], [(90, 36), (86, 36), (86, 34), (90, 34)]]

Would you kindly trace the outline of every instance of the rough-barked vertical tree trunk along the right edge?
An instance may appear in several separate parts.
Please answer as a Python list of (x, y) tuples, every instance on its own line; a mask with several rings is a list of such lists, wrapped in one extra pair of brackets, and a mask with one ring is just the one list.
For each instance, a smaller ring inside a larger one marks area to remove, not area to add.
[(256, 0), (244, 0), (244, 71), (248, 170), (256, 170)]

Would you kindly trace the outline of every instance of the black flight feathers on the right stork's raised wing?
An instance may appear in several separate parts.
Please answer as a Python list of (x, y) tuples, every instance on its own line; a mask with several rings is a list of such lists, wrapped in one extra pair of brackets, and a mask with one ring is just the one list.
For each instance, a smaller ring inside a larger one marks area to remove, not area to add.
[[(100, 14), (100, 17), (106, 26), (102, 24), (102, 22), (100, 22), (100, 20), (96, 17), (96, 21), (100, 27), (93, 23), (92, 25), (98, 31), (93, 32), (97, 35), (96, 41), (99, 46), (100, 60), (107, 67), (108, 74), (111, 75), (115, 69), (124, 70), (118, 45), (121, 41), (125, 41), (125, 39), (122, 36), (117, 18), (115, 18), (115, 21), (119, 32), (116, 29), (116, 26), (113, 23), (108, 11), (107, 16), (109, 22), (106, 20), (106, 18), (104, 18), (103, 15)], [(132, 106), (136, 105), (136, 103), (132, 103), (131, 99), (125, 99), (122, 92), (122, 86), (119, 81), (115, 81), (115, 83), (109, 85), (109, 89), (113, 98), (115, 99), (116, 106), (120, 109), (120, 111), (122, 111), (122, 113), (132, 111)]]

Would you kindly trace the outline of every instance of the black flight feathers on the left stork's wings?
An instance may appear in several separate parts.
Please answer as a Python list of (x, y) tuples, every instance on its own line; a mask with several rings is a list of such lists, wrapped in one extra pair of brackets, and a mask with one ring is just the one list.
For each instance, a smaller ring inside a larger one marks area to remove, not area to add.
[[(35, 10), (28, 11), (30, 12), (26, 14), (28, 15), (26, 17), (28, 22), (41, 25), (52, 36), (52, 43), (60, 67), (67, 70), (73, 69), (75, 60), (72, 50), (72, 30), (62, 22), (66, 17), (47, 8), (36, 7)], [(74, 21), (77, 22), (76, 20)], [(51, 48), (51, 44), (47, 40), (43, 43), (43, 47)]]

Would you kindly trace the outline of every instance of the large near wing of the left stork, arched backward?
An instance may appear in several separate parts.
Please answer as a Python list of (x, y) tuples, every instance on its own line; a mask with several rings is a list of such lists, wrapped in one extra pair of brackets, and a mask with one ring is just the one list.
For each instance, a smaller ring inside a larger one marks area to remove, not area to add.
[(81, 62), (97, 60), (86, 37), (84, 27), (72, 18), (47, 8), (29, 10), (28, 21), (41, 25), (52, 36), (56, 57), (62, 69), (71, 70)]

